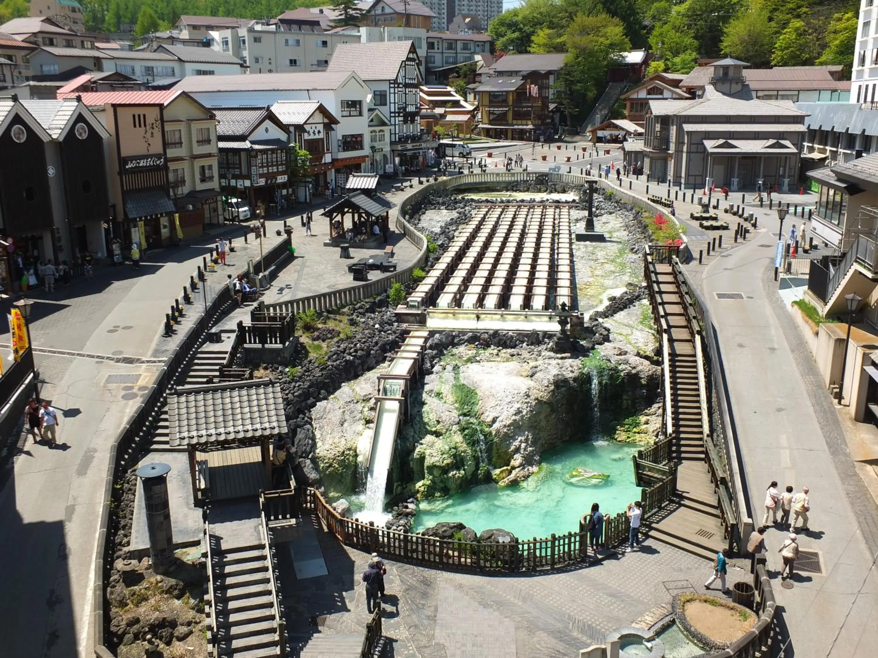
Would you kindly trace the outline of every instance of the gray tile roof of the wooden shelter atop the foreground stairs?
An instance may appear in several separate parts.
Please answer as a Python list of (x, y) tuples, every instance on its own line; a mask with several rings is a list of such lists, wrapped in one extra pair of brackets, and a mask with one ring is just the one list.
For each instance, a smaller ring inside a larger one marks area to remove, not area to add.
[(287, 433), (280, 384), (270, 379), (179, 388), (168, 397), (168, 420), (171, 447)]

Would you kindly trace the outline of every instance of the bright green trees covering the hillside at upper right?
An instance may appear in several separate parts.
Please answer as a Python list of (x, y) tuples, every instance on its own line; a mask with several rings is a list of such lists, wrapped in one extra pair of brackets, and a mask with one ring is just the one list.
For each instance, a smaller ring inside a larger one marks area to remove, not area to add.
[(687, 74), (702, 58), (753, 67), (841, 64), (850, 74), (857, 0), (525, 0), (488, 27), (499, 52), (568, 53), (558, 90), (585, 118), (620, 53), (648, 48), (648, 74)]

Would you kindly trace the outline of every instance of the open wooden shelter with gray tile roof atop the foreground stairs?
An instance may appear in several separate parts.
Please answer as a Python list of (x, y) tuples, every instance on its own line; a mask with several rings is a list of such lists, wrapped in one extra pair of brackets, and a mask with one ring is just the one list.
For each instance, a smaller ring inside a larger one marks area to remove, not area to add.
[(186, 447), (195, 504), (271, 489), (271, 447), (288, 433), (270, 379), (186, 386), (168, 397), (169, 446)]

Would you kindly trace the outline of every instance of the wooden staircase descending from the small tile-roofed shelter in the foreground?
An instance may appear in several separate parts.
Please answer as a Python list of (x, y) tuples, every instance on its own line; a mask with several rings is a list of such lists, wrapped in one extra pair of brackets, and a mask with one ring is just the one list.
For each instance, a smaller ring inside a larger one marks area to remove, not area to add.
[(216, 658), (282, 655), (270, 569), (263, 544), (218, 549), (211, 554)]

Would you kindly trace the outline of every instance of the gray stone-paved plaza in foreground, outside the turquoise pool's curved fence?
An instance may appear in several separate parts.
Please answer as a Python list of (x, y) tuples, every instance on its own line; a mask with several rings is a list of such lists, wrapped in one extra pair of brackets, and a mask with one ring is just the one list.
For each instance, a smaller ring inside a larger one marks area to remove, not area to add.
[[(313, 633), (306, 619), (323, 633), (362, 632), (369, 614), (360, 575), (369, 555), (317, 531), (327, 576), (297, 581), (281, 565), (291, 633)], [(674, 593), (703, 592), (710, 574), (709, 562), (654, 540), (555, 573), (479, 576), (393, 562), (387, 569), (383, 629), (392, 655), (421, 658), (569, 658)], [(733, 561), (728, 586), (749, 577), (749, 561)]]

